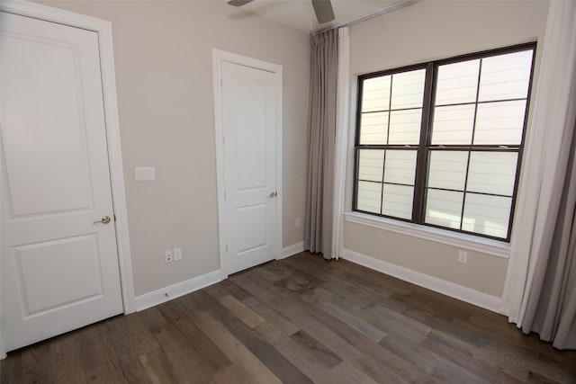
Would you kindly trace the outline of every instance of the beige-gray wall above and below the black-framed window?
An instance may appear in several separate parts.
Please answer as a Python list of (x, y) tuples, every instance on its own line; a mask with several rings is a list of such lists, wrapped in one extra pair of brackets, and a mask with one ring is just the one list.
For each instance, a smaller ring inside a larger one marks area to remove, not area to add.
[[(350, 29), (353, 84), (360, 74), (543, 41), (547, 12), (547, 1), (424, 0), (384, 14)], [(535, 87), (542, 49), (539, 44)], [(508, 259), (472, 251), (467, 264), (457, 263), (454, 246), (350, 222), (345, 248), (498, 297), (508, 268)]]

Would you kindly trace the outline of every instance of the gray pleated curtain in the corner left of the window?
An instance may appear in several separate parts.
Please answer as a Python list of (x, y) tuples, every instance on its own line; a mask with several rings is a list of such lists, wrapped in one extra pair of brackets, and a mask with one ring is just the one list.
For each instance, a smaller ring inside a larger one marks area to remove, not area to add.
[(304, 249), (332, 257), (338, 30), (311, 36), (308, 180)]

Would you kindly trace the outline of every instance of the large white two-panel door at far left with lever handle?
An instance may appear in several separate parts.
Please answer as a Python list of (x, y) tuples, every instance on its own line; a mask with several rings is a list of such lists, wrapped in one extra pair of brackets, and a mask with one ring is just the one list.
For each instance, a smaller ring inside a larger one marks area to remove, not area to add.
[(122, 302), (98, 36), (1, 17), (1, 313), (10, 351), (117, 315)]

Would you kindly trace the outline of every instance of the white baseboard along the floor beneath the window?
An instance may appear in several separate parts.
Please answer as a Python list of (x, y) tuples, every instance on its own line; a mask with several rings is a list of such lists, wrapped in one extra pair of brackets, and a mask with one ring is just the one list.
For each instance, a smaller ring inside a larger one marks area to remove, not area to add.
[(451, 298), (459, 299), (477, 307), (500, 313), (501, 299), (479, 290), (473, 290), (451, 281), (438, 279), (437, 277), (428, 274), (412, 271), (408, 268), (384, 262), (375, 259), (374, 257), (362, 255), (349, 249), (344, 249), (342, 251), (342, 258), (353, 263), (364, 265), (374, 271), (383, 272), (403, 281), (411, 282), (412, 284), (419, 285), (428, 290), (434, 290), (443, 295), (450, 296)]

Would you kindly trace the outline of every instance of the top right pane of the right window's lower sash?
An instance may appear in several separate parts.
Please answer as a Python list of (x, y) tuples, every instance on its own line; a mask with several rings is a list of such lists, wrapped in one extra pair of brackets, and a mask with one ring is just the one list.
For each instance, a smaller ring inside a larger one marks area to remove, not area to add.
[(517, 162), (516, 152), (473, 152), (467, 191), (512, 196)]

